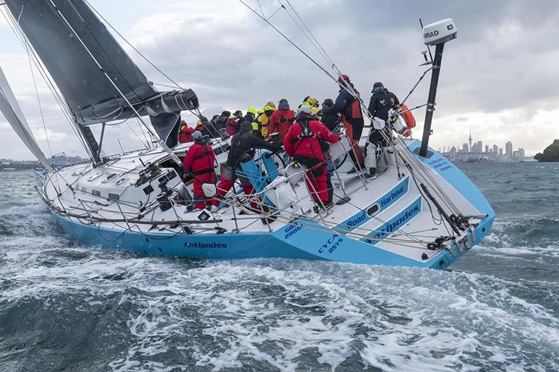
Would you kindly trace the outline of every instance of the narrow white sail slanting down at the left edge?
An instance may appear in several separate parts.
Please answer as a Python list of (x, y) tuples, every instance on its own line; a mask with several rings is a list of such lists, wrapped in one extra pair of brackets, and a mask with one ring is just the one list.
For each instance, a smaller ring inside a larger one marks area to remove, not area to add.
[(13, 130), (17, 135), (20, 137), (22, 142), (27, 146), (29, 151), (38, 159), (38, 161), (43, 164), (43, 167), (47, 169), (52, 169), (50, 164), (48, 163), (45, 154), (41, 151), (41, 148), (38, 146), (33, 133), (31, 133), (31, 129), (29, 128), (29, 124), (27, 124), (27, 120), (25, 119), (22, 109), (20, 105), (17, 104), (15, 96), (13, 95), (12, 89), (10, 89), (10, 85), (8, 84), (8, 80), (6, 80), (6, 76), (4, 76), (2, 69), (0, 68), (0, 111), (10, 123)]

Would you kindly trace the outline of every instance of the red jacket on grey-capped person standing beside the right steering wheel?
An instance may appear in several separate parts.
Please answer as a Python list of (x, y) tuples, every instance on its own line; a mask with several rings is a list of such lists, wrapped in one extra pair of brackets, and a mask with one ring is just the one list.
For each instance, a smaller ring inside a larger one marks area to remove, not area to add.
[[(310, 120), (308, 122), (309, 129), (323, 141), (334, 143), (340, 140), (340, 136), (332, 133), (324, 124), (318, 120)], [(284, 138), (285, 152), (294, 157), (296, 155), (310, 156), (311, 158), (324, 159), (324, 151), (320, 146), (320, 142), (316, 137), (306, 137), (298, 139), (303, 128), (296, 122), (289, 128)]]

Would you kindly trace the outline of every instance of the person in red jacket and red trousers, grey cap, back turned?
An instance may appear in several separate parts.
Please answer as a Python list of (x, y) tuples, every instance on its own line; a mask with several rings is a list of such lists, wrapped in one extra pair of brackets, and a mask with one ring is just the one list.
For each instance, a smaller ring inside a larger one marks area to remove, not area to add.
[(326, 183), (326, 142), (334, 143), (340, 136), (332, 133), (310, 114), (308, 106), (300, 107), (295, 124), (289, 128), (284, 138), (285, 152), (305, 165), (307, 187), (315, 202), (328, 204), (328, 185)]

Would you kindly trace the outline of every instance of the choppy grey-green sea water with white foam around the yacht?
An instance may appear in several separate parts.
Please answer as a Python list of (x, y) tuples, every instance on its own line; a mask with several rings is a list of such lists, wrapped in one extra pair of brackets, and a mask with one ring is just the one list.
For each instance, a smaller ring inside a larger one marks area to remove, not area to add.
[(145, 258), (0, 173), (0, 371), (557, 371), (559, 164), (466, 164), (497, 217), (447, 271)]

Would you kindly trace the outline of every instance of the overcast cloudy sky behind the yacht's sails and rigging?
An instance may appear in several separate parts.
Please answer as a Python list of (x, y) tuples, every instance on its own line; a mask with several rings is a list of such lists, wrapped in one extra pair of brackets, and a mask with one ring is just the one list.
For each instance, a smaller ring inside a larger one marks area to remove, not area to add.
[[(203, 113), (246, 111), (287, 98), (297, 106), (305, 96), (319, 101), (337, 96), (337, 85), (239, 1), (91, 0), (92, 5), (156, 66), (198, 94)], [(282, 0), (286, 4), (286, 0)], [(259, 9), (258, 1), (247, 0)], [(277, 0), (261, 0), (266, 16)], [(452, 17), (458, 38), (445, 47), (435, 134), (439, 147), (467, 140), (498, 144), (511, 140), (535, 154), (559, 138), (559, 1), (357, 1), (291, 0), (300, 16), (340, 69), (368, 102), (380, 80), (403, 98), (425, 67), (419, 18), (430, 23)], [(284, 10), (271, 22), (323, 66), (326, 62)], [(0, 66), (20, 101), (39, 144), (49, 155), (27, 54), (0, 17)], [(120, 43), (122, 39), (117, 38)], [(124, 45), (124, 43), (122, 43)], [(148, 79), (165, 77), (124, 49)], [(161, 87), (161, 89), (165, 89)], [(52, 153), (80, 149), (47, 87), (38, 81)], [(426, 102), (428, 78), (409, 105)], [(424, 110), (417, 110), (421, 137)], [(138, 124), (131, 121), (136, 135)], [(127, 126), (111, 127), (107, 147), (133, 146)], [(126, 138), (126, 139), (124, 139)], [(82, 153), (83, 154), (83, 153)], [(0, 158), (32, 156), (0, 114)]]

